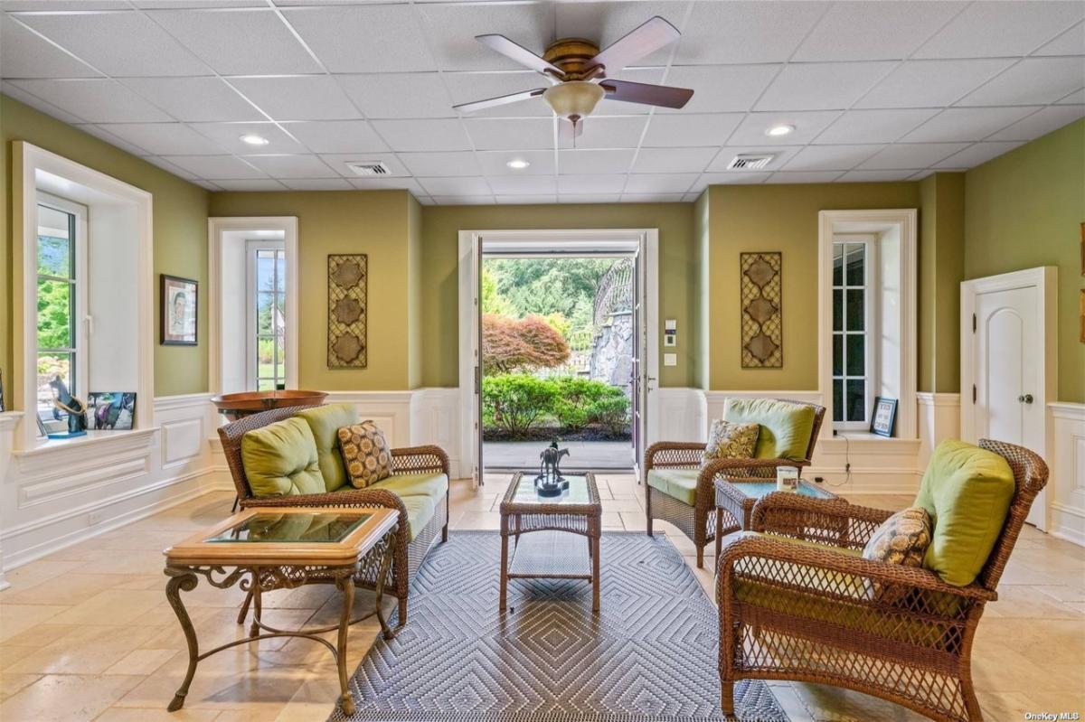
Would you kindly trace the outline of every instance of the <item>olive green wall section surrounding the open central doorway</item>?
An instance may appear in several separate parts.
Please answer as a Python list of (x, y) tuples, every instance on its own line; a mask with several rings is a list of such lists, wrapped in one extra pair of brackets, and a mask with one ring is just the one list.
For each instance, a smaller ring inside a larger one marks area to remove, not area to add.
[[(424, 386), (459, 385), (459, 275), (461, 230), (656, 228), (660, 231), (660, 319), (678, 321), (677, 366), (660, 363), (661, 386), (694, 379), (693, 323), (698, 273), (693, 257), (693, 205), (426, 206), (422, 209), (422, 326)], [(662, 336), (662, 324), (660, 334)], [(663, 352), (660, 340), (660, 352)]]

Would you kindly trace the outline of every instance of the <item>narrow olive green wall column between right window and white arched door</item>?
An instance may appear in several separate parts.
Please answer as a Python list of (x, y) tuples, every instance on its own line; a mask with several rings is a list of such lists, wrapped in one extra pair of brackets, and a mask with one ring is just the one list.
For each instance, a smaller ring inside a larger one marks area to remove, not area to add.
[(965, 280), (965, 173), (919, 184), (918, 390), (960, 391), (960, 282)]

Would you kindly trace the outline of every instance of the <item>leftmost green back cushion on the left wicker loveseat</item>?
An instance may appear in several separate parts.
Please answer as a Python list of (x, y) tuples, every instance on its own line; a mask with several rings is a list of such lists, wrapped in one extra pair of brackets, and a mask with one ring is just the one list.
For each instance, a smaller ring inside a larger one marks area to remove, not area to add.
[(305, 421), (291, 417), (241, 437), (241, 463), (256, 497), (316, 494), (324, 491), (317, 443)]

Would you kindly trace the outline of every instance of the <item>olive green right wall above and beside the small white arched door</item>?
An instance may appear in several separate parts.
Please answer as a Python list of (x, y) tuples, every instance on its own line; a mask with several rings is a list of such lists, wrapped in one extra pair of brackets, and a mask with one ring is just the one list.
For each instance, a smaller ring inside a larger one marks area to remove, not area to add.
[(1078, 336), (1085, 119), (965, 173), (965, 278), (1057, 266), (1059, 400), (1085, 402)]

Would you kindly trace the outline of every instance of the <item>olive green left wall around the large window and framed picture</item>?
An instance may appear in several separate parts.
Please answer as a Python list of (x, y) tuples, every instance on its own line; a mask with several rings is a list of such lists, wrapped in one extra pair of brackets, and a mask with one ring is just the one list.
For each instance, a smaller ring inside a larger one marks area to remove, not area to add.
[[(12, 317), (12, 184), (22, 182), (22, 168), (12, 167), (12, 142), (26, 141), (62, 155), (69, 160), (112, 176), (154, 196), (154, 274), (170, 273), (195, 279), (202, 288), (207, 282), (207, 207), (206, 190), (181, 180), (108, 143), (55, 118), (0, 95), (0, 364), (4, 381), (12, 377), (13, 334), (21, 333)], [(17, 181), (13, 179), (18, 179)], [(155, 319), (158, 318), (155, 283)], [(199, 394), (207, 390), (207, 302), (200, 304), (197, 346), (161, 346), (155, 328), (154, 394)], [(157, 326), (157, 322), (155, 323)]]

